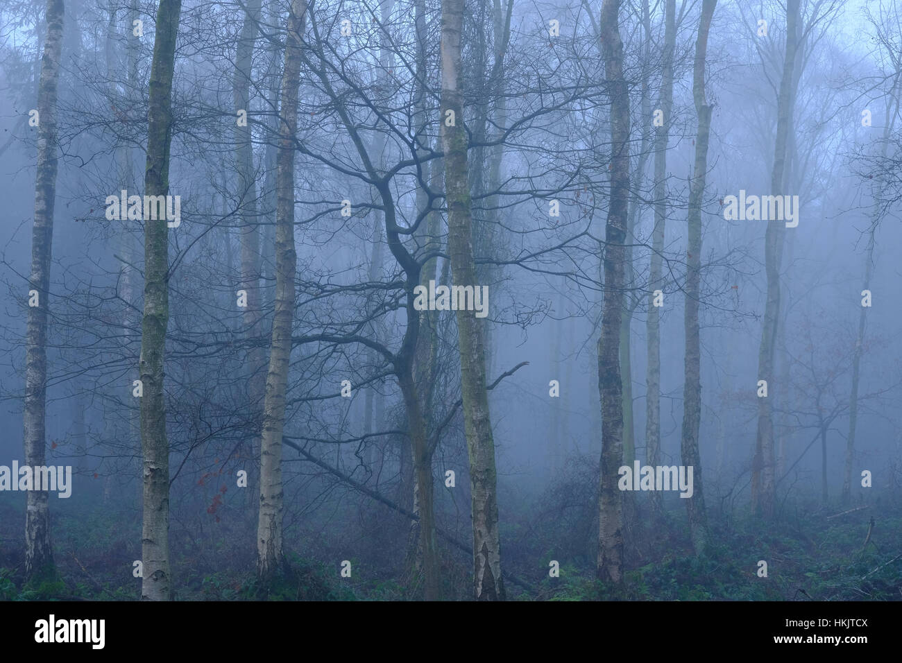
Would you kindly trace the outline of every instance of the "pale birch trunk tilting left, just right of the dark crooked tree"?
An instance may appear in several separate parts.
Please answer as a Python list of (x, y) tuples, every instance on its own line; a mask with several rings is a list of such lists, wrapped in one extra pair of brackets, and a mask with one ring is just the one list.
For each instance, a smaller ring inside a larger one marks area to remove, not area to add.
[[(464, 130), (464, 90), (461, 72), (461, 30), (464, 0), (442, 1), (441, 130), (445, 152), (445, 189), (448, 206), (448, 253), (455, 285), (479, 286), (473, 257), (467, 139)], [(446, 112), (454, 114), (448, 126)], [(498, 531), (495, 447), (485, 389), (485, 350), (480, 320), (475, 311), (457, 311), (461, 391), (464, 401), (466, 446), (470, 458), (473, 514), (474, 593), (477, 600), (504, 599), (501, 537)]]

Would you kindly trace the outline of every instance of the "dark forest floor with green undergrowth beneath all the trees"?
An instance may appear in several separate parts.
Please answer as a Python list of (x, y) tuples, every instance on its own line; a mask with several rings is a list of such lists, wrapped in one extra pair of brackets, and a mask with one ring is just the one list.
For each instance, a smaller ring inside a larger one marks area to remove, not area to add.
[[(102, 508), (54, 514), (59, 577), (30, 586), (23, 578), (20, 502), (0, 494), (0, 601), (130, 601), (139, 597), (141, 581), (133, 576), (133, 561), (140, 556), (136, 514), (124, 519), (123, 512)], [(682, 511), (669, 511), (657, 522), (645, 520), (640, 529), (627, 528), (625, 555), (632, 563), (621, 587), (594, 580), (591, 551), (572, 556), (570, 561), (562, 556), (559, 576), (549, 576), (546, 558), (553, 557), (545, 551), (554, 546), (537, 542), (532, 550), (517, 549), (511, 554), (506, 570), (520, 584), (507, 582), (508, 597), (525, 601), (902, 600), (902, 510), (879, 504), (822, 508), (813, 502), (799, 502), (783, 513), (771, 524), (747, 516), (712, 520), (711, 543), (702, 557), (692, 554)], [(509, 540), (515, 539), (516, 532), (508, 534)], [(202, 540), (194, 541), (194, 548), (173, 537), (176, 599), (260, 598), (253, 579), (253, 551), (241, 556), (235, 553), (240, 541), (253, 539), (244, 539), (244, 532), (238, 537), (238, 532), (216, 529), (197, 536)], [(588, 551), (592, 538), (586, 539)], [(502, 532), (502, 545), (504, 540)], [(210, 556), (191, 552), (200, 546), (205, 550), (212, 547), (214, 552)], [(419, 598), (419, 587), (405, 582), (397, 569), (392, 574), (391, 569), (354, 562), (354, 576), (343, 578), (335, 565), (302, 559), (296, 551), (289, 557), (291, 579), (268, 595), (272, 600)], [(545, 561), (540, 565), (523, 562), (537, 557)], [(761, 562), (767, 563), (766, 576)], [(447, 552), (443, 564), (446, 597), (465, 599), (468, 560)]]

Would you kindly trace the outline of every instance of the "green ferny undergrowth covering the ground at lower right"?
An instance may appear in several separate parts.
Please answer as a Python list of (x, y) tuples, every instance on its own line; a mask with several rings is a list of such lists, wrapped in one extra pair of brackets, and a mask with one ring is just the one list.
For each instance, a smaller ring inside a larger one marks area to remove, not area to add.
[[(865, 511), (868, 512), (868, 511)], [(703, 555), (674, 547), (628, 570), (621, 585), (594, 578), (594, 568), (561, 565), (542, 582), (551, 601), (899, 601), (902, 518), (884, 516), (873, 529), (858, 515), (804, 524), (748, 519), (714, 524)], [(767, 576), (759, 576), (767, 562)]]

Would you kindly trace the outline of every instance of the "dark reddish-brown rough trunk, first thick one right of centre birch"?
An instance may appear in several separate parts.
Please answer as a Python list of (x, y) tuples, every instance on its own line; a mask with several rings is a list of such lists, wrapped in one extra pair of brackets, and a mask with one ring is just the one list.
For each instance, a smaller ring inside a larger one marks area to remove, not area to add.
[(630, 197), (630, 97), (623, 78), (623, 42), (618, 19), (620, 0), (604, 0), (601, 38), (604, 78), (611, 97), (611, 199), (604, 230), (602, 333), (598, 338), (598, 391), (602, 404), (602, 463), (599, 490), (599, 579), (623, 579), (623, 496), (618, 469), (623, 461), (623, 385), (620, 326), (623, 314), (623, 268), (626, 257), (627, 206)]

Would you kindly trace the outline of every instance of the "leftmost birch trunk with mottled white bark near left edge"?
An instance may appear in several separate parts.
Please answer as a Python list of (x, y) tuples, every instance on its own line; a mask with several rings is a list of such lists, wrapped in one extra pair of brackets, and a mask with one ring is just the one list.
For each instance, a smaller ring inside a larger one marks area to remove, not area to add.
[[(57, 83), (62, 49), (62, 0), (48, 0), (47, 39), (41, 57), (38, 84), (38, 162), (34, 180), (32, 272), (29, 290), (36, 290), (38, 305), (28, 307), (25, 336), (25, 401), (23, 441), (26, 465), (44, 465), (47, 418), (47, 311), (50, 306), (53, 257), (53, 207), (57, 180)], [(31, 299), (31, 293), (26, 295)], [(28, 491), (25, 511), (25, 577), (55, 573), (51, 546), (49, 493)]]

